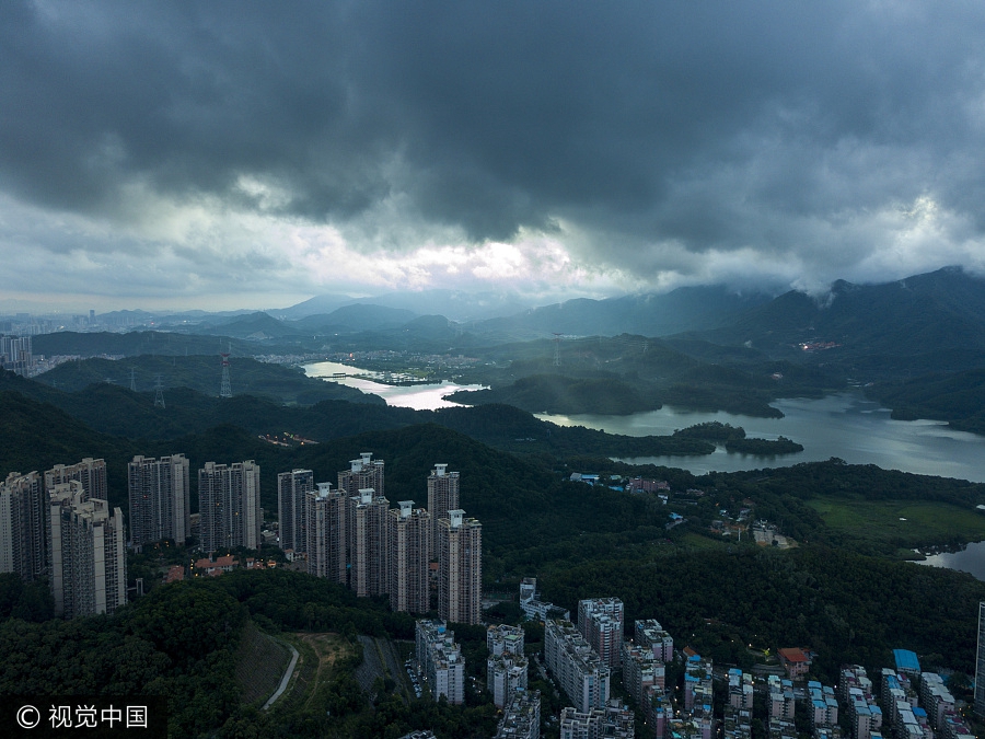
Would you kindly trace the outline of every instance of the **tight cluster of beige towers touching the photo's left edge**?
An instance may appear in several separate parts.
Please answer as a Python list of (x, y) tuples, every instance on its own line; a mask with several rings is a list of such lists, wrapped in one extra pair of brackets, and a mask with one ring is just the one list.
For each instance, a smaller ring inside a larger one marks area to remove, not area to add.
[(126, 532), (108, 503), (104, 460), (11, 472), (0, 483), (0, 571), (47, 577), (55, 613), (67, 619), (126, 603)]

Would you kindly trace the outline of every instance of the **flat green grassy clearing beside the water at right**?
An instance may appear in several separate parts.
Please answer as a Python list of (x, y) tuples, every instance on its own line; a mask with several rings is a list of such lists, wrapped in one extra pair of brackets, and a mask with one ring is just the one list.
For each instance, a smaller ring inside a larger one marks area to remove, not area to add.
[(821, 497), (807, 501), (824, 523), (853, 539), (916, 547), (985, 539), (985, 516), (929, 500), (846, 500)]

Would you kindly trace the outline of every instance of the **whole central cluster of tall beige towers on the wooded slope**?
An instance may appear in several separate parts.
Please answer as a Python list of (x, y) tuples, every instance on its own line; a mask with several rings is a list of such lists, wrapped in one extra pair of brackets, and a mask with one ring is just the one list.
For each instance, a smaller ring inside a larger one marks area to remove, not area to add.
[(280, 546), (308, 559), (308, 571), (358, 596), (390, 596), (394, 611), (426, 613), (430, 563), (438, 561), (438, 613), (444, 621), (482, 622), (482, 524), (459, 508), (460, 476), (436, 464), (428, 507), (390, 507), (384, 463), (371, 452), (338, 473), (338, 486), (315, 483), (311, 470), (277, 476)]

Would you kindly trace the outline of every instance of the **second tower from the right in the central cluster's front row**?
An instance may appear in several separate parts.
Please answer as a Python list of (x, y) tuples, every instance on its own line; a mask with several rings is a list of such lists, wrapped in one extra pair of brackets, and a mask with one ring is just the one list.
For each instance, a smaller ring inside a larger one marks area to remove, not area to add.
[(427, 613), (428, 535), (431, 517), (413, 500), (401, 500), (387, 511), (390, 536), (390, 608), (394, 611)]

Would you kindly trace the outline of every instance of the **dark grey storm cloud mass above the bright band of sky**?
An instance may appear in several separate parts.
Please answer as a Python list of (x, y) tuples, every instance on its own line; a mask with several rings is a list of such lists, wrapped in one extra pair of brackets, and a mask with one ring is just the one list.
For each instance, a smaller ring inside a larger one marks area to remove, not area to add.
[(985, 227), (983, 31), (974, 2), (7, 2), (0, 185), (849, 264), (845, 223), (928, 194)]

